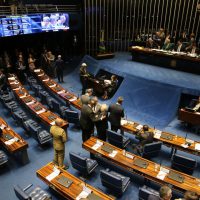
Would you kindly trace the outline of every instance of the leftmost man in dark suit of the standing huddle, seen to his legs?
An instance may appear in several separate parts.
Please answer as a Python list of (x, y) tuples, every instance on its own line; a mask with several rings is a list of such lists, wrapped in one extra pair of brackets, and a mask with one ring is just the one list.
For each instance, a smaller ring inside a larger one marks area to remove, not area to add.
[(88, 140), (94, 132), (94, 123), (98, 121), (98, 115), (93, 111), (95, 100), (91, 98), (89, 103), (83, 104), (81, 108), (80, 125), (82, 130), (82, 141)]

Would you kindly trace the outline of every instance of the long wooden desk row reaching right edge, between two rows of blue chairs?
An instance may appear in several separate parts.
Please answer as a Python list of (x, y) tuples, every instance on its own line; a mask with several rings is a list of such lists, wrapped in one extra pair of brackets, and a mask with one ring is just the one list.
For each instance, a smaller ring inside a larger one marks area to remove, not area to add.
[(170, 184), (173, 189), (181, 192), (189, 190), (200, 195), (200, 179), (198, 178), (158, 165), (129, 152), (124, 152), (124, 150), (95, 137), (91, 137), (84, 142), (83, 148), (96, 157), (109, 160), (133, 174), (143, 176), (145, 179), (161, 185)]

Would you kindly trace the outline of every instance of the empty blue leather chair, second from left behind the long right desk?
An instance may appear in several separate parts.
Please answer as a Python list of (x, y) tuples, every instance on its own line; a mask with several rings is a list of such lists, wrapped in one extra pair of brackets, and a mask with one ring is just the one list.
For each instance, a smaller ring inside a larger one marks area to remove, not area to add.
[(100, 171), (101, 183), (114, 193), (122, 195), (127, 189), (130, 178), (109, 169)]

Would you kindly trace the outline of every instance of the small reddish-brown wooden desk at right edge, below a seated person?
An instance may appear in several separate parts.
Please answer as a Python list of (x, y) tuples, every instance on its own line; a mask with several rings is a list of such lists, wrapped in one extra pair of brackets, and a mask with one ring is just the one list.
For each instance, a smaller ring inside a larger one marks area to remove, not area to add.
[(200, 125), (199, 112), (189, 112), (185, 110), (184, 108), (181, 108), (178, 112), (178, 119), (192, 125)]

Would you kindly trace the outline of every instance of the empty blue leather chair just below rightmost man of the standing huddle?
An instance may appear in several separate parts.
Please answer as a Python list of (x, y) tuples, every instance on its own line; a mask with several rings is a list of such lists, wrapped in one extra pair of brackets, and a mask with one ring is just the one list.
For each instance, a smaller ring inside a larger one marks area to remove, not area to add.
[(122, 149), (130, 143), (130, 139), (128, 137), (112, 130), (107, 130), (107, 138), (110, 144)]

